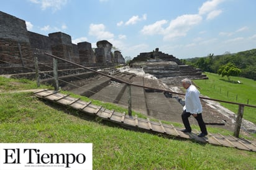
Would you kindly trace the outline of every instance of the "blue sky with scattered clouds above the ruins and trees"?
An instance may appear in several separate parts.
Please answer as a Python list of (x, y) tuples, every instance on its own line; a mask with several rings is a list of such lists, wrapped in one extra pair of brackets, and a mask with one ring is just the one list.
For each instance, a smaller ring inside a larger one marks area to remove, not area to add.
[(8, 0), (0, 11), (27, 29), (63, 32), (73, 43), (108, 40), (131, 58), (159, 51), (176, 58), (256, 48), (254, 0)]

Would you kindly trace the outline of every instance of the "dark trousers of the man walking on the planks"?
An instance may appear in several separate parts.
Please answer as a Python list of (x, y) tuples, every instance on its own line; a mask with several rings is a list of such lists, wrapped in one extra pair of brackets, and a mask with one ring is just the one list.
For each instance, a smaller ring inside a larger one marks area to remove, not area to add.
[[(188, 131), (191, 131), (190, 121), (188, 121), (188, 118), (190, 117), (190, 115), (191, 115), (190, 112), (186, 112), (186, 110), (184, 110), (182, 115), (181, 115), (183, 124), (184, 124), (186, 130), (188, 130)], [(200, 127), (201, 132), (204, 133), (204, 134), (208, 134), (207, 130), (206, 130), (206, 125), (205, 125), (203, 117), (202, 117), (202, 114), (198, 114), (198, 116), (194, 117), (194, 118), (198, 121), (198, 125)]]

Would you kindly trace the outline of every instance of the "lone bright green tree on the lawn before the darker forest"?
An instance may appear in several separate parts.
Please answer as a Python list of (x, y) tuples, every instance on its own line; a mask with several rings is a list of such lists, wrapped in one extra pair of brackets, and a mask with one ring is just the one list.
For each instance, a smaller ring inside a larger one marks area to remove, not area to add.
[(227, 63), (226, 65), (219, 66), (217, 74), (222, 77), (227, 76), (227, 79), (230, 81), (230, 76), (239, 76), (241, 70), (237, 68), (233, 63)]

